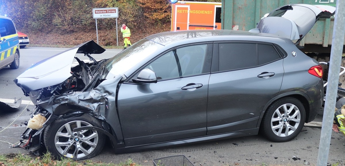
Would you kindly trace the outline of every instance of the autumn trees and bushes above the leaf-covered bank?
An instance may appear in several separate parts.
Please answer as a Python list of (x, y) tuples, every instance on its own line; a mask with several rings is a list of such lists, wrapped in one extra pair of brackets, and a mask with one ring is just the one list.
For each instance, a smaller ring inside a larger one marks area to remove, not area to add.
[[(7, 14), (17, 29), (73, 33), (95, 29), (93, 8), (119, 9), (118, 25), (132, 29), (162, 26), (170, 22), (169, 0), (10, 0), (0, 3), (0, 14)], [(97, 19), (99, 29), (116, 28), (115, 18)]]

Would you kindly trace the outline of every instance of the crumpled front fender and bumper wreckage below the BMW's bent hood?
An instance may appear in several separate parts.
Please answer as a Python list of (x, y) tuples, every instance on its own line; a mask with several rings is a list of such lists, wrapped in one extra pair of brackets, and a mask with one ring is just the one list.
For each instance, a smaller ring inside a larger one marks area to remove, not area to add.
[[(42, 155), (46, 150), (43, 131), (56, 119), (67, 119), (84, 113), (104, 121), (106, 117), (117, 117), (115, 94), (121, 78), (105, 80), (90, 91), (69, 92), (39, 100), (29, 123), (32, 119), (38, 119), (39, 122), (31, 126), (28, 124), (27, 130), (21, 135), (21, 138), (27, 139), (25, 148), (35, 155)], [(107, 123), (110, 126), (119, 125), (115, 120)]]

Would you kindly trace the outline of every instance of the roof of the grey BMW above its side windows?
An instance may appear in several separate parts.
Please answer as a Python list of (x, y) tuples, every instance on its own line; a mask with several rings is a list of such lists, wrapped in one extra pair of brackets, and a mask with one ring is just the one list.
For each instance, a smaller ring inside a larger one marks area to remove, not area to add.
[[(277, 35), (269, 33), (252, 33), (249, 31), (240, 31), (240, 30), (183, 30), (183, 31), (168, 31), (156, 33), (146, 37), (146, 39), (159, 43), (161, 45), (167, 45), (169, 43), (178, 42), (182, 40), (195, 40), (198, 38), (213, 38), (211, 40), (216, 40), (218, 37), (223, 38), (222, 36), (256, 36), (256, 37), (274, 37), (280, 38)], [(215, 38), (216, 37), (216, 38)], [(205, 41), (205, 40), (204, 40)]]

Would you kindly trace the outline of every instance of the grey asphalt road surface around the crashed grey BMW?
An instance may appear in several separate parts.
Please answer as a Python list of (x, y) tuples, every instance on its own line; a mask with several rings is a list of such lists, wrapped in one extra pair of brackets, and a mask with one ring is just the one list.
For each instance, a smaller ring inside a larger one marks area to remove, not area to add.
[[(66, 49), (43, 47), (21, 49), (20, 68), (13, 70), (6, 67), (0, 70), (0, 101), (14, 97), (29, 100), (23, 95), (21, 89), (14, 84), (13, 80), (34, 62)], [(95, 59), (109, 58), (119, 51), (108, 49), (105, 53), (95, 56)], [(78, 57), (88, 59), (83, 55)], [(10, 148), (11, 146), (4, 142), (14, 144), (21, 139), (20, 135), (26, 129), (23, 123), (29, 120), (32, 109), (32, 104), (22, 104), (13, 111), (0, 110), (0, 154), (28, 153), (23, 148)], [(322, 113), (321, 110), (315, 119), (316, 124), (320, 124), (322, 121)], [(106, 143), (101, 154), (92, 160), (118, 164), (127, 158), (133, 158), (135, 163), (153, 165), (153, 159), (185, 155), (195, 166), (262, 165), (263, 163), (267, 165), (304, 165), (307, 163), (316, 165), (320, 133), (321, 127), (304, 126), (302, 132), (295, 139), (285, 143), (274, 143), (257, 135), (127, 154), (114, 154), (111, 144)], [(328, 163), (345, 164), (344, 144), (344, 135), (333, 132)]]

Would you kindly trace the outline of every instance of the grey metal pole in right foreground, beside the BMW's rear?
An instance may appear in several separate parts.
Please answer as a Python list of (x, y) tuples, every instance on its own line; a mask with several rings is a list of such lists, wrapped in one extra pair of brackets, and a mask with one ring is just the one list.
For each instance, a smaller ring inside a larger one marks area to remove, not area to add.
[(320, 137), (317, 166), (327, 165), (329, 144), (332, 136), (332, 123), (334, 118), (335, 99), (337, 96), (337, 86), (339, 82), (339, 71), (341, 57), (343, 53), (345, 34), (345, 1), (338, 0), (336, 4), (334, 28), (332, 37), (331, 59), (329, 62), (328, 85), (326, 91), (326, 101), (324, 115), (322, 119), (322, 129)]

